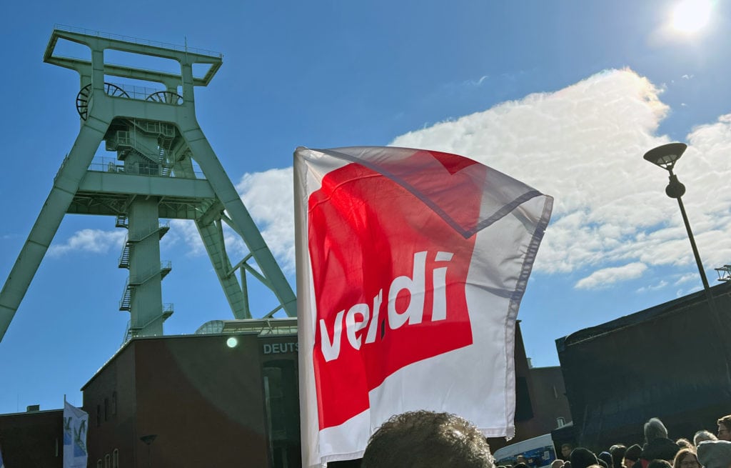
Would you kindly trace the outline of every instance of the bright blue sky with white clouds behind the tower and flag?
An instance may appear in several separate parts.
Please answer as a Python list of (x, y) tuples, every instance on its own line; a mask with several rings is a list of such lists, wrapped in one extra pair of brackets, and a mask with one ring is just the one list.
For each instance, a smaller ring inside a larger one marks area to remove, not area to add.
[[(77, 75), (42, 62), (54, 23), (187, 42), (224, 54), (197, 89), (199, 122), (292, 284), (297, 146), (452, 151), (553, 195), (519, 318), (534, 365), (557, 365), (559, 336), (700, 288), (666, 175), (645, 151), (689, 143), (676, 173), (711, 282), (731, 260), (730, 5), (683, 34), (670, 26), (676, 4), (12, 2), (0, 19), (0, 281), (78, 131)], [(173, 223), (162, 245), (166, 333), (232, 318), (189, 228)], [(64, 394), (80, 405), (118, 349), (120, 231), (110, 218), (64, 219), (0, 342), (0, 413), (58, 408)]]

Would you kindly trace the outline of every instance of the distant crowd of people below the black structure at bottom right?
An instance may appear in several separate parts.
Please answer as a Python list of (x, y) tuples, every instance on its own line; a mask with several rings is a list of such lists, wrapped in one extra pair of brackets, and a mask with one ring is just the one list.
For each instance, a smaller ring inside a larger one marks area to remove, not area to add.
[[(658, 418), (645, 423), (645, 444), (612, 445), (596, 454), (586, 448), (561, 446), (551, 468), (731, 468), (731, 415), (718, 421), (718, 432), (697, 431), (693, 440), (673, 440)], [(517, 465), (513, 468), (522, 468)]]

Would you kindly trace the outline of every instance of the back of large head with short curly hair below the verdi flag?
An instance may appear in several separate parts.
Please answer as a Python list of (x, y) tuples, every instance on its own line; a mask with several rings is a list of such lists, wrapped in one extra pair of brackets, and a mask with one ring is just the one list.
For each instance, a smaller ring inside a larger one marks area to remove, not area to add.
[(426, 410), (392, 416), (368, 440), (362, 468), (494, 468), (485, 437), (458, 415)]

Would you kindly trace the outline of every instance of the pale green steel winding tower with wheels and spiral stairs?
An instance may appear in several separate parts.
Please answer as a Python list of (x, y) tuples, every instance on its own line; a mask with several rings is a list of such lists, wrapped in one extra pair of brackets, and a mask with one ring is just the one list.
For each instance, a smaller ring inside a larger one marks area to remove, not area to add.
[[(88, 47), (91, 60), (56, 54), (60, 41)], [(105, 50), (134, 54), (141, 63), (145, 56), (147, 62), (172, 59), (180, 73), (105, 63)], [(173, 313), (162, 302), (162, 279), (171, 266), (160, 261), (159, 242), (169, 229), (160, 219), (194, 220), (235, 318), (252, 317), (247, 278), (262, 282), (279, 302), (260, 315), (283, 309), (295, 317), (292, 288), (195, 116), (194, 88), (208, 86), (221, 54), (56, 26), (43, 60), (78, 72), (80, 130), (0, 291), (0, 340), (67, 213), (113, 216), (116, 227), (128, 230), (119, 258), (119, 267), (129, 268), (119, 307), (130, 314), (126, 339), (161, 335)], [(205, 73), (194, 76), (194, 65)], [(124, 83), (111, 83), (114, 78)], [(159, 88), (129, 84), (143, 82)], [(102, 141), (116, 157), (99, 165), (94, 155)], [(226, 252), (223, 224), (249, 249), (235, 264)]]

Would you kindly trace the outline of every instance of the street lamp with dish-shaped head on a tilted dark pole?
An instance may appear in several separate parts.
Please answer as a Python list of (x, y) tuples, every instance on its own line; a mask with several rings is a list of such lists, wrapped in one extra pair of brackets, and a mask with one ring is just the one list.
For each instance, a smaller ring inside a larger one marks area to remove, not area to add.
[(708, 278), (705, 277), (703, 264), (700, 261), (700, 254), (698, 253), (698, 247), (695, 245), (693, 231), (690, 229), (688, 215), (686, 215), (685, 206), (683, 206), (683, 200), (681, 199), (683, 194), (685, 194), (685, 186), (678, 181), (678, 176), (673, 174), (675, 162), (678, 162), (678, 159), (681, 159), (686, 148), (688, 148), (688, 146), (685, 143), (667, 143), (667, 145), (651, 149), (645, 153), (645, 156), (643, 157), (654, 165), (662, 167), (670, 173), (670, 183), (667, 184), (667, 187), (665, 187), (665, 193), (668, 197), (678, 200), (678, 206), (681, 208), (681, 215), (683, 216), (683, 223), (686, 225), (686, 231), (688, 232), (688, 238), (690, 239), (690, 246), (693, 249), (695, 263), (698, 265), (698, 273), (700, 273), (700, 279), (703, 282), (703, 290), (705, 291), (706, 298), (708, 298), (708, 306), (711, 308), (713, 316), (719, 321), (720, 325), (721, 317), (719, 317), (719, 314), (716, 311), (716, 302), (713, 301), (713, 295), (711, 294), (711, 289), (708, 286)]

